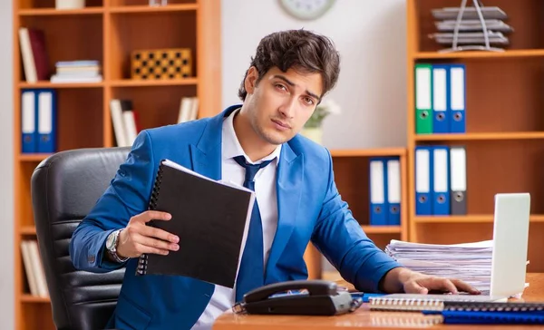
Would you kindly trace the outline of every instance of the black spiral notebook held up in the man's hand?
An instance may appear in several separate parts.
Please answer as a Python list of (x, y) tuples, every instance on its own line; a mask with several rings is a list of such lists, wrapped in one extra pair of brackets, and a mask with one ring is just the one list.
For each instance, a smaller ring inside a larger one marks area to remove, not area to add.
[(136, 274), (185, 276), (234, 287), (254, 201), (250, 189), (161, 160), (149, 209), (169, 212), (172, 218), (148, 225), (177, 235), (180, 249), (167, 256), (142, 255)]

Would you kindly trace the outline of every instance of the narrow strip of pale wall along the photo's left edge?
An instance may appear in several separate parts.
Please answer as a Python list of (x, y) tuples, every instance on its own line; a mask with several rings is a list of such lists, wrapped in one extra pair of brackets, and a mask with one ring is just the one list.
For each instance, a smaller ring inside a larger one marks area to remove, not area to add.
[(0, 1), (0, 329), (13, 329), (14, 309), (14, 149), (12, 1)]

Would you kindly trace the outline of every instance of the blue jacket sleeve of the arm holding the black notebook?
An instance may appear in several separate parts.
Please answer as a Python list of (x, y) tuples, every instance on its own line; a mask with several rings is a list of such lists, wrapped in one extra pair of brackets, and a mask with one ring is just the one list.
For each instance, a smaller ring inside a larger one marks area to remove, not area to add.
[(150, 135), (141, 131), (108, 189), (73, 232), (69, 252), (75, 268), (103, 273), (124, 266), (104, 257), (105, 241), (148, 209), (155, 165)]

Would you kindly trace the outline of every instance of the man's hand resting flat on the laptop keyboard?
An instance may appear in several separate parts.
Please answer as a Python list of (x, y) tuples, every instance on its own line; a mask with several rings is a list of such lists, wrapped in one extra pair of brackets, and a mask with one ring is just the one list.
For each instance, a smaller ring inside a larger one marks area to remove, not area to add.
[(382, 289), (388, 293), (405, 292), (426, 295), (429, 291), (437, 290), (454, 295), (459, 291), (480, 295), (480, 291), (459, 279), (432, 277), (403, 267), (394, 268), (385, 275)]

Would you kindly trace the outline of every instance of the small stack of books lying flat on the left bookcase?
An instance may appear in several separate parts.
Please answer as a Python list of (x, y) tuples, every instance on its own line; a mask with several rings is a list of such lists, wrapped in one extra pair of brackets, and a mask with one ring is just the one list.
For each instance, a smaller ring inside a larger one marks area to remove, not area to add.
[(99, 61), (65, 61), (55, 63), (51, 82), (102, 82)]

